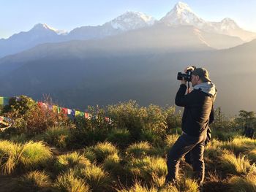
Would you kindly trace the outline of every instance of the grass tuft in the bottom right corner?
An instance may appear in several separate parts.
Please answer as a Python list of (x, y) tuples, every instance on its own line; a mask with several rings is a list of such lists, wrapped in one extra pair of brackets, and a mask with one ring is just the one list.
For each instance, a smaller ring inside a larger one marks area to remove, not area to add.
[(256, 175), (248, 174), (243, 177), (233, 176), (229, 180), (230, 191), (233, 192), (254, 192), (256, 191)]

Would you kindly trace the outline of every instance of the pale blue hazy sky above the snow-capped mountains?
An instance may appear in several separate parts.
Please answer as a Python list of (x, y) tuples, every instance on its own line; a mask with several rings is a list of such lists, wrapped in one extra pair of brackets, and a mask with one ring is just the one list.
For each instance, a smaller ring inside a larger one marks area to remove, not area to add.
[[(172, 0), (0, 0), (0, 39), (29, 31), (37, 23), (70, 31), (97, 26), (127, 10), (160, 19), (178, 1)], [(256, 32), (256, 0), (184, 0), (200, 18), (232, 18), (238, 26)]]

